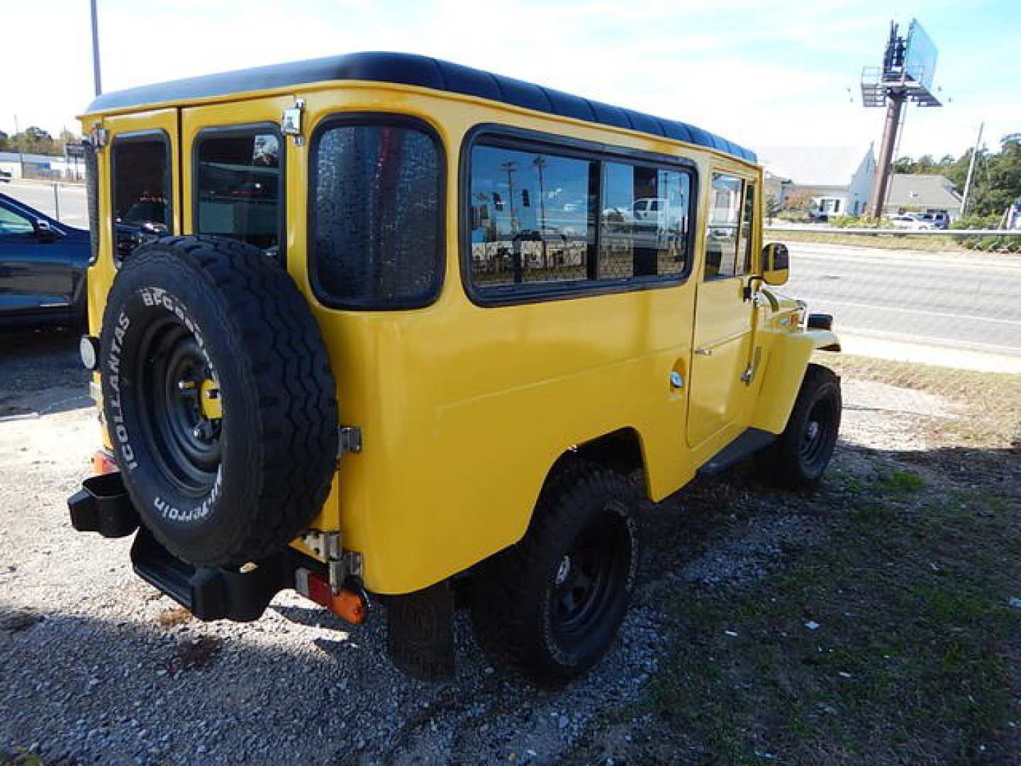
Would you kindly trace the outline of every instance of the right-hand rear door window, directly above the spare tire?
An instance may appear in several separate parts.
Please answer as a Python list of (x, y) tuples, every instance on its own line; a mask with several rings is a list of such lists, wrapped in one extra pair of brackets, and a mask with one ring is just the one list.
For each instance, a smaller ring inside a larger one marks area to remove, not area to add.
[(247, 242), (279, 257), (284, 208), (281, 141), (266, 129), (198, 138), (195, 231)]

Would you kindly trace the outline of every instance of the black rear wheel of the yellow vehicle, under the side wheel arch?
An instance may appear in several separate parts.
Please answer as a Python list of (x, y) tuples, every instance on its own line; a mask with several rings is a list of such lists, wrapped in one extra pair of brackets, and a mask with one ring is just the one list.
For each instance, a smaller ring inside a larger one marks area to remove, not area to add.
[(525, 537), (475, 574), (480, 642), (540, 683), (561, 684), (606, 653), (638, 569), (625, 478), (579, 463), (544, 488)]

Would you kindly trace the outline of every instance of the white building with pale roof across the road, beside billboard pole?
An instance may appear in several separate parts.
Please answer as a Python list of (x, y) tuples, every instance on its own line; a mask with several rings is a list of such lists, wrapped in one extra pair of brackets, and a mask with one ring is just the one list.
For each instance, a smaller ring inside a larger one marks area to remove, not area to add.
[(876, 175), (872, 144), (867, 147), (757, 147), (766, 169), (766, 194), (781, 206), (808, 194), (819, 212), (865, 212)]

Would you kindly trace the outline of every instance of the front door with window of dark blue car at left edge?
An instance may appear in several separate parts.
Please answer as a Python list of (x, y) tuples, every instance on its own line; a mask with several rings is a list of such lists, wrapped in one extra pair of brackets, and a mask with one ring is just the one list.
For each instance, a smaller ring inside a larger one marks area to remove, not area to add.
[(61, 230), (0, 199), (0, 316), (62, 312), (70, 303), (70, 254)]

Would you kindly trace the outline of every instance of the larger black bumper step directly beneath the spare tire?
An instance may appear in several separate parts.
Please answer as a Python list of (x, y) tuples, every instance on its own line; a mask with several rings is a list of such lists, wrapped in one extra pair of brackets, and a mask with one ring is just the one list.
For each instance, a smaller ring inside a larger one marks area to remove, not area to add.
[(145, 527), (135, 536), (131, 561), (135, 574), (200, 620), (235, 622), (261, 617), (274, 595), (294, 587), (297, 566), (284, 549), (245, 572), (194, 567), (160, 545)]

